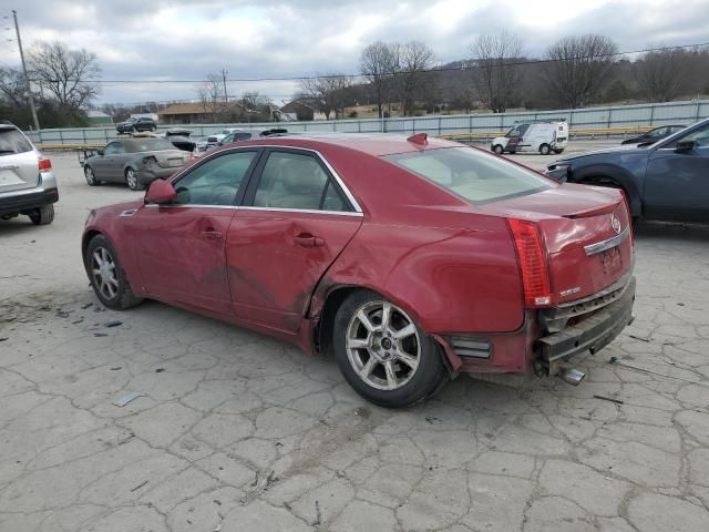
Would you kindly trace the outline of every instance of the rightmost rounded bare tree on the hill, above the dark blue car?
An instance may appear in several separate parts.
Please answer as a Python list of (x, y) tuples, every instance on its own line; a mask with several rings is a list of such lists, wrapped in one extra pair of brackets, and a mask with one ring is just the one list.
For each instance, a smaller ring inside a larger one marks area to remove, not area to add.
[(686, 85), (689, 54), (681, 49), (646, 52), (635, 64), (640, 91), (649, 102), (669, 102)]

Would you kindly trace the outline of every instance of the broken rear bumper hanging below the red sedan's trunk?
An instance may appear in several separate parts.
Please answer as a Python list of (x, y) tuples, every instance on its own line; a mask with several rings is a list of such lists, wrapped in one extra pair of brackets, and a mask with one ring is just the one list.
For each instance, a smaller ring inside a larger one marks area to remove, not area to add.
[(582, 321), (558, 332), (540, 338), (542, 360), (548, 364), (549, 375), (558, 372), (558, 365), (585, 351), (596, 352), (610, 344), (633, 321), (635, 277), (630, 277), (623, 295)]

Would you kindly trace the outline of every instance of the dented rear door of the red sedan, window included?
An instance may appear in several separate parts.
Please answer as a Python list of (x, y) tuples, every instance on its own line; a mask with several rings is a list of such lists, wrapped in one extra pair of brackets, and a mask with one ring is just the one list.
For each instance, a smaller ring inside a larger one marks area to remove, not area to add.
[(310, 296), (362, 223), (318, 154), (271, 149), (232, 221), (227, 275), (237, 318), (296, 334)]

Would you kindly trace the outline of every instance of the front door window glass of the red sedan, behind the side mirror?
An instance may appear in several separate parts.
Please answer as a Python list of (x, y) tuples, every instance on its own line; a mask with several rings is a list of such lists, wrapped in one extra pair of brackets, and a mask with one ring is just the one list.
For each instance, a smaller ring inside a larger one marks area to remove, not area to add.
[(235, 152), (210, 158), (175, 183), (178, 205), (234, 205), (256, 152)]

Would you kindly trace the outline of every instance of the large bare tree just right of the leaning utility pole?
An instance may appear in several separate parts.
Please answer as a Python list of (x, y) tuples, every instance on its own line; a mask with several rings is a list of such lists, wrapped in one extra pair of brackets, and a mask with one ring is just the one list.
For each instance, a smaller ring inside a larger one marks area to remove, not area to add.
[(66, 44), (38, 42), (29, 53), (31, 78), (47, 89), (60, 109), (75, 111), (91, 103), (99, 93), (94, 81), (101, 78), (96, 55)]

